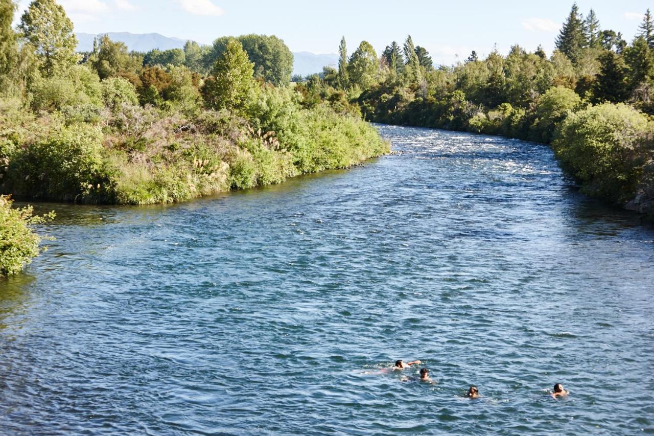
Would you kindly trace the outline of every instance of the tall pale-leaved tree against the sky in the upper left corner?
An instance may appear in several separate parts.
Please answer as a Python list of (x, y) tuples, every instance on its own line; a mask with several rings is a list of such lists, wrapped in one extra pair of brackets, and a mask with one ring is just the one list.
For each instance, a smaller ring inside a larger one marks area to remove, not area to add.
[(52, 77), (75, 65), (78, 56), (73, 22), (54, 0), (33, 0), (20, 20), (24, 37), (41, 60), (41, 72)]

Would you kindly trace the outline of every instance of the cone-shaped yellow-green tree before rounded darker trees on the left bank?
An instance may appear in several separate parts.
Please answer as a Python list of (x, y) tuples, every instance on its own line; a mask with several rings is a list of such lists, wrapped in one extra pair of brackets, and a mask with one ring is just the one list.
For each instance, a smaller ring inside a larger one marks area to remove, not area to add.
[(213, 109), (243, 111), (252, 101), (256, 82), (254, 63), (250, 62), (243, 45), (230, 39), (225, 51), (216, 60), (207, 79), (203, 94), (207, 105)]

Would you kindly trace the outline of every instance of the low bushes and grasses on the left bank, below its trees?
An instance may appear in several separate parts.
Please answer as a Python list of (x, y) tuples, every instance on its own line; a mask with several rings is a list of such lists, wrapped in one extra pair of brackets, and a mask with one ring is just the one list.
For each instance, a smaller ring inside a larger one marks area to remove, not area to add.
[[(286, 91), (268, 90), (260, 105), (269, 110), (279, 94)], [(0, 106), (10, 132), (0, 189), (20, 199), (82, 204), (181, 202), (348, 168), (390, 151), (362, 120), (281, 103), (286, 118), (265, 123), (268, 113), (248, 120), (230, 111), (185, 115), (133, 105), (70, 122)]]

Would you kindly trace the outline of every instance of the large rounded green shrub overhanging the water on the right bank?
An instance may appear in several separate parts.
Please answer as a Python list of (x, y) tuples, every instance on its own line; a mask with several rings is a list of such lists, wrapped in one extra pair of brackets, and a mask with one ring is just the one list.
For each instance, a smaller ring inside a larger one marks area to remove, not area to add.
[(562, 122), (552, 147), (583, 192), (623, 203), (634, 196), (647, 134), (645, 115), (623, 103), (590, 107)]

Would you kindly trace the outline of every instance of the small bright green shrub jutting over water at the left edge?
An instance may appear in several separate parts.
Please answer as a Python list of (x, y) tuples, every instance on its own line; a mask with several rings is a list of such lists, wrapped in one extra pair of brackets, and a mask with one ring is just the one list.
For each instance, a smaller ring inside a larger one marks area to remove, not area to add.
[(44, 217), (33, 216), (33, 208), (12, 208), (12, 200), (0, 196), (0, 276), (18, 274), (39, 255), (41, 237), (31, 226), (54, 218), (54, 213)]

